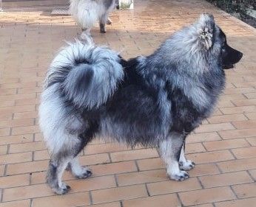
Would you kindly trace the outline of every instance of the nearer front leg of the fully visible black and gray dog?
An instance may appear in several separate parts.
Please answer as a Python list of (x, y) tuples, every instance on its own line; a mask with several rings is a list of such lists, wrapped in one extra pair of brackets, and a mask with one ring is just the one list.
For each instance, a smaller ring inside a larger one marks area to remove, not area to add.
[(172, 132), (164, 141), (161, 141), (159, 146), (161, 157), (166, 163), (167, 175), (178, 181), (189, 178), (189, 174), (179, 167), (183, 141), (184, 136), (181, 133)]

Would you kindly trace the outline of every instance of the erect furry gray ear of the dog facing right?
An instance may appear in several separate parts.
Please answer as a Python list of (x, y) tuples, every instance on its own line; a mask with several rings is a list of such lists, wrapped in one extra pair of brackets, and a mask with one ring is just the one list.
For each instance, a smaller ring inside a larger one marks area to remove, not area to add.
[(202, 46), (208, 50), (212, 47), (213, 32), (215, 29), (215, 20), (213, 15), (202, 14), (196, 23), (198, 38)]

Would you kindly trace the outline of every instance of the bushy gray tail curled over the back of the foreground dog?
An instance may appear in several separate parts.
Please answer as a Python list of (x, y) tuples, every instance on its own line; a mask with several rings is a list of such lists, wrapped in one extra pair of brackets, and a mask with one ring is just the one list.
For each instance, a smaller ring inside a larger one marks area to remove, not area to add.
[(117, 52), (76, 41), (53, 60), (46, 87), (59, 84), (64, 97), (78, 108), (98, 108), (124, 77)]

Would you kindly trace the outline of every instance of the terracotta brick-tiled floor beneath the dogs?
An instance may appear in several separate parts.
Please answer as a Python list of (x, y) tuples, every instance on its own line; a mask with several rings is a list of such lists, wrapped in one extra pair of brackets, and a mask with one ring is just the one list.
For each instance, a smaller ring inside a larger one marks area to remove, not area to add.
[(215, 15), (244, 57), (236, 69), (226, 71), (218, 109), (188, 138), (188, 157), (197, 163), (191, 178), (168, 180), (155, 150), (94, 141), (81, 153), (93, 177), (74, 180), (65, 172), (72, 191), (64, 196), (55, 196), (45, 184), (48, 155), (37, 109), (50, 61), (80, 29), (67, 16), (0, 13), (0, 206), (255, 206), (255, 29), (205, 1), (145, 0), (135, 1), (135, 10), (115, 11), (107, 33), (95, 28), (92, 35), (124, 57), (147, 55), (203, 12)]

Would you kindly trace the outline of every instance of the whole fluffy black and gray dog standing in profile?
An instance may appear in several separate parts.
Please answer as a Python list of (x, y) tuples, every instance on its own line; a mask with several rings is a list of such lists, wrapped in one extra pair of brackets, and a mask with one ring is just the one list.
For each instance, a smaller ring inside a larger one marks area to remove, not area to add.
[(186, 170), (195, 164), (184, 155), (186, 136), (214, 110), (223, 68), (241, 57), (212, 15), (201, 15), (147, 57), (126, 61), (92, 43), (67, 46), (50, 66), (39, 108), (51, 155), (47, 183), (66, 193), (67, 165), (75, 177), (89, 177), (77, 155), (95, 136), (158, 147), (169, 178), (189, 178)]

